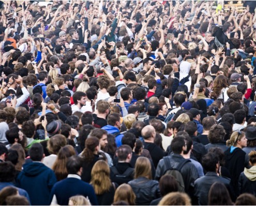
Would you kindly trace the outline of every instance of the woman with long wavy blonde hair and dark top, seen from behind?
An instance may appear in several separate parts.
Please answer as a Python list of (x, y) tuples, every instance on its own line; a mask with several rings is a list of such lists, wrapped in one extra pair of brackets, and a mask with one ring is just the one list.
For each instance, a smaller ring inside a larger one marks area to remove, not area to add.
[(99, 205), (111, 205), (113, 203), (118, 185), (111, 182), (110, 168), (106, 161), (99, 160), (95, 163), (90, 184), (94, 187)]

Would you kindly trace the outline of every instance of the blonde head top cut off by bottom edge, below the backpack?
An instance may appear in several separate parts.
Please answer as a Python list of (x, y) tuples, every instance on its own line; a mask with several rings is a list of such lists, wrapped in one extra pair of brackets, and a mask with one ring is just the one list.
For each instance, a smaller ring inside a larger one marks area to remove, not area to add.
[(186, 193), (174, 192), (165, 195), (158, 205), (191, 205), (191, 200)]

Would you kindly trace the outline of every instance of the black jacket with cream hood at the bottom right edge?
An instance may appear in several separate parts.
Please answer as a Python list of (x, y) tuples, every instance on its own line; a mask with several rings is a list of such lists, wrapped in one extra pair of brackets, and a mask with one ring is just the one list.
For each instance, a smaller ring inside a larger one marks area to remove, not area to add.
[(256, 196), (256, 166), (245, 168), (238, 180), (238, 193), (250, 193)]

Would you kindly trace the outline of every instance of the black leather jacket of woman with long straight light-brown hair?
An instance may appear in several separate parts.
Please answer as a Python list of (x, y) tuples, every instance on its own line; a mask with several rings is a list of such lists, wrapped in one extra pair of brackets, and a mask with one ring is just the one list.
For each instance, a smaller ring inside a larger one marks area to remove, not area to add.
[(159, 183), (156, 180), (139, 177), (128, 184), (136, 195), (136, 205), (149, 205), (152, 200), (161, 197)]

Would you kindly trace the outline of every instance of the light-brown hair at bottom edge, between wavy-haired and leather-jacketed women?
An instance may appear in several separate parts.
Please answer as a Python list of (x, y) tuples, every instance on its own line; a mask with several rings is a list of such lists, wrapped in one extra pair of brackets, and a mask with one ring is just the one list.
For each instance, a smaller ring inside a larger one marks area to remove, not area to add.
[(128, 205), (135, 205), (135, 194), (129, 184), (121, 184), (117, 187), (114, 196), (114, 202), (126, 201)]

